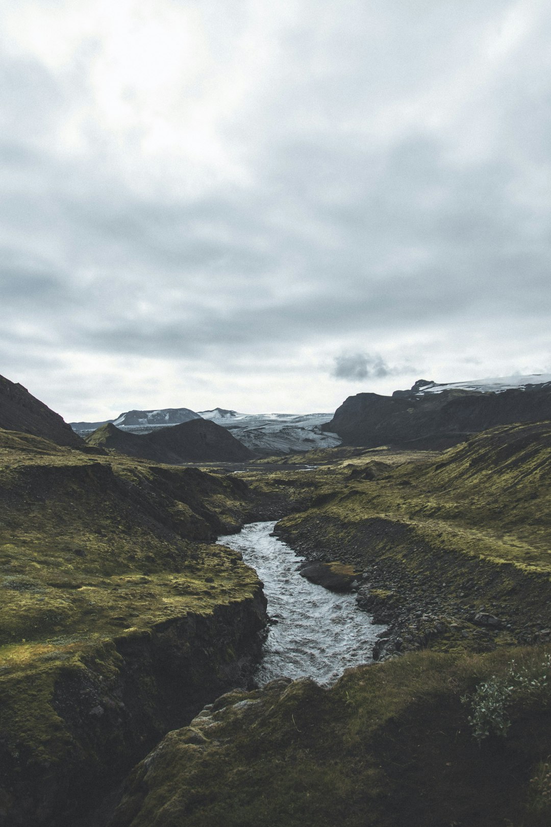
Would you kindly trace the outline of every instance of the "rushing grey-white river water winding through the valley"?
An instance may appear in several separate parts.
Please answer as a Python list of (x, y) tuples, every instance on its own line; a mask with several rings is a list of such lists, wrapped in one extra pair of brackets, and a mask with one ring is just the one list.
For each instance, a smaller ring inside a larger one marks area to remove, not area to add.
[(258, 571), (268, 614), (277, 621), (269, 627), (256, 680), (262, 686), (276, 677), (310, 676), (329, 684), (347, 667), (371, 661), (373, 643), (384, 627), (373, 625), (358, 609), (355, 595), (335, 594), (300, 576), (297, 566), (303, 557), (271, 536), (274, 525), (249, 523), (239, 534), (218, 539)]

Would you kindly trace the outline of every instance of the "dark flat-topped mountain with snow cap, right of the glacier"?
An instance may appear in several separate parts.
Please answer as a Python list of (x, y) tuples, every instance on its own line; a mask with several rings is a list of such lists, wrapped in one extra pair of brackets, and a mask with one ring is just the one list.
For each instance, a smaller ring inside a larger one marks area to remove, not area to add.
[[(544, 381), (534, 383), (526, 379)], [(551, 419), (547, 375), (437, 385), (419, 380), (392, 396), (349, 396), (324, 429), (348, 445), (444, 448), (496, 425)], [(517, 380), (515, 386), (511, 386)]]

